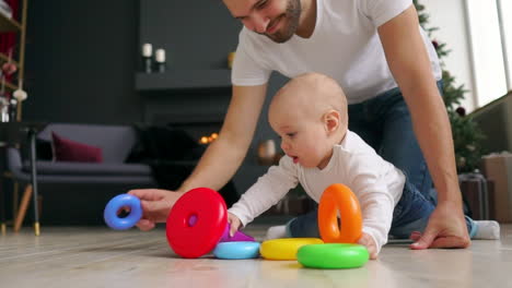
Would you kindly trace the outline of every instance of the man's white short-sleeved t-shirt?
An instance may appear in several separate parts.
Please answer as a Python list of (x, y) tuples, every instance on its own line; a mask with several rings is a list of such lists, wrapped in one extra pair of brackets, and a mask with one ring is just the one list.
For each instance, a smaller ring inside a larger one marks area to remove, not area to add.
[[(335, 79), (348, 104), (361, 103), (397, 87), (376, 28), (404, 12), (411, 0), (316, 0), (313, 35), (293, 35), (278, 44), (243, 27), (232, 70), (232, 84), (261, 85), (270, 73), (288, 77), (318, 72)], [(418, 26), (430, 56), (434, 77), (441, 79), (435, 49)]]

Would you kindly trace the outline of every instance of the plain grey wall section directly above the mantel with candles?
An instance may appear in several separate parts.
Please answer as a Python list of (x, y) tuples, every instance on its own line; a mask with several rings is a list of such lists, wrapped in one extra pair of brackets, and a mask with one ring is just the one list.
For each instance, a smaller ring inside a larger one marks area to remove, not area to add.
[(139, 44), (164, 48), (171, 69), (226, 68), (241, 27), (221, 0), (140, 1)]

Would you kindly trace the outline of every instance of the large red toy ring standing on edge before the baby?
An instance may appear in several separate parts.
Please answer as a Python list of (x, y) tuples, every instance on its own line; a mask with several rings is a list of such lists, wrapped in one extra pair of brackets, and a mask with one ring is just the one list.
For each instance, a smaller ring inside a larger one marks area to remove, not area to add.
[(199, 257), (216, 248), (226, 223), (222, 196), (208, 188), (193, 189), (176, 201), (167, 216), (168, 244), (183, 257)]

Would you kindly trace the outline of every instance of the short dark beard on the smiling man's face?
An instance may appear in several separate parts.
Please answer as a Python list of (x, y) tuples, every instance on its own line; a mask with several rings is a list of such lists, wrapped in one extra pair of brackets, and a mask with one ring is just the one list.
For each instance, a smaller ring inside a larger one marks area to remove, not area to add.
[(288, 41), (293, 36), (293, 34), (295, 34), (295, 31), (299, 27), (299, 19), (301, 16), (301, 0), (288, 0), (286, 13), (279, 15), (276, 19), (276, 21), (286, 21), (287, 23), (284, 24), (287, 25), (282, 26), (281, 31), (277, 31), (274, 34), (263, 34), (269, 37), (275, 43)]

